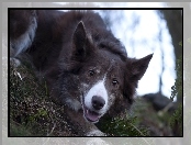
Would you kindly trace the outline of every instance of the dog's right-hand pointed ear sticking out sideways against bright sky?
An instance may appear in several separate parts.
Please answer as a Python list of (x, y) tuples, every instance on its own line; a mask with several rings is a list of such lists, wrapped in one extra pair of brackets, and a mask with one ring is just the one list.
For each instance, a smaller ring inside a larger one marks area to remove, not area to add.
[(132, 60), (132, 75), (131, 80), (141, 80), (141, 78), (144, 76), (148, 64), (153, 57), (153, 54), (147, 55), (141, 59), (133, 59)]

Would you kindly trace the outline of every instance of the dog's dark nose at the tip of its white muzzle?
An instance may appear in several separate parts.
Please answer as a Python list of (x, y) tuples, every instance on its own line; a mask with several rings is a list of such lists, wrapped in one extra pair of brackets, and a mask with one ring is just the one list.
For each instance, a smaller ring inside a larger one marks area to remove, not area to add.
[(93, 109), (100, 110), (105, 104), (105, 101), (104, 101), (104, 99), (102, 97), (93, 96), (91, 103), (92, 103)]

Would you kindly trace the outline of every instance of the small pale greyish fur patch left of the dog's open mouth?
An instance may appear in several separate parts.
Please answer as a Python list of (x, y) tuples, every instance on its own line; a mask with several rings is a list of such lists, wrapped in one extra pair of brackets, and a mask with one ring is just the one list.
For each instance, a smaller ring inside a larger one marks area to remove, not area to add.
[(76, 99), (69, 99), (69, 98), (67, 98), (66, 99), (66, 104), (70, 109), (75, 110), (76, 112), (78, 112), (78, 110), (81, 109), (81, 103), (78, 100), (76, 100)]

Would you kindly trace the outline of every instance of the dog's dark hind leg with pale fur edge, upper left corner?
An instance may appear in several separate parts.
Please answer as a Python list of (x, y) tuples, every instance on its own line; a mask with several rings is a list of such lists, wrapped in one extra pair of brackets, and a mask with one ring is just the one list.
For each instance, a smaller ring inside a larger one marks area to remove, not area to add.
[(37, 29), (35, 10), (10, 10), (10, 64), (21, 65), (18, 58), (31, 47)]

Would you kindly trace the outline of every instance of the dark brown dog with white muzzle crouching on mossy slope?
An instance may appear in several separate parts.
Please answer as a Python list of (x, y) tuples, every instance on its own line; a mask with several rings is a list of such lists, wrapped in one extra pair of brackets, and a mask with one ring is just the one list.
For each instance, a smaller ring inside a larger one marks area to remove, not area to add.
[(103, 136), (94, 123), (123, 114), (153, 54), (130, 58), (96, 12), (10, 10), (10, 57), (26, 53), (82, 136)]

